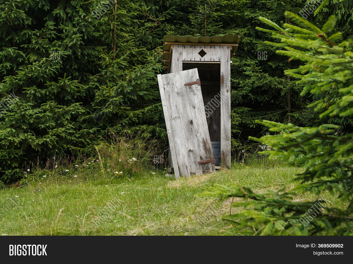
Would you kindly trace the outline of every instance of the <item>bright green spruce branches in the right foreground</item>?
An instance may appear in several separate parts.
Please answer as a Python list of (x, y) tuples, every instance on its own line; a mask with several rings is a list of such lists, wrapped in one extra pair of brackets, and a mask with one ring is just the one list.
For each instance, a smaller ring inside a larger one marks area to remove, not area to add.
[[(342, 33), (334, 33), (336, 18), (331, 16), (322, 28), (297, 14), (286, 12), (295, 22), (283, 27), (266, 18), (261, 20), (273, 27), (277, 42), (268, 42), (279, 49), (277, 54), (301, 60), (297, 69), (285, 74), (303, 85), (301, 95), (322, 95), (315, 101), (320, 118), (352, 118), (353, 115), (353, 53), (352, 42), (339, 41)], [(269, 32), (267, 29), (259, 30)], [(324, 119), (323, 119), (324, 120)], [(280, 159), (290, 166), (305, 168), (293, 182), (294, 188), (254, 193), (249, 186), (230, 183), (217, 185), (205, 195), (222, 198), (242, 197), (243, 202), (232, 206), (244, 211), (225, 217), (246, 233), (258, 235), (352, 235), (353, 234), (353, 133), (340, 133), (340, 124), (300, 127), (292, 123), (258, 121), (269, 128), (271, 135), (251, 139), (270, 146), (264, 151), (270, 159)], [(324, 199), (331, 192), (345, 200), (344, 208)], [(295, 200), (300, 193), (316, 196), (307, 201)], [(250, 229), (249, 229), (250, 228)], [(250, 231), (254, 230), (254, 231)]]

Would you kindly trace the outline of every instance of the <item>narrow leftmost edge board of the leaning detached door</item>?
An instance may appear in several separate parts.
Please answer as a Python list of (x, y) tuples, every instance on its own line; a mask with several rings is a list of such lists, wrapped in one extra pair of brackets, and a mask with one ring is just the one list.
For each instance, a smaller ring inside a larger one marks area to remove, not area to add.
[[(161, 100), (162, 100), (162, 106), (163, 106), (163, 112), (164, 112), (164, 120), (166, 121), (166, 127), (167, 127), (167, 134), (168, 134), (168, 141), (169, 141), (169, 153), (172, 158), (172, 162), (174, 164), (178, 164), (177, 154), (175, 152), (175, 146), (174, 146), (174, 141), (173, 141), (173, 131), (170, 126), (170, 114), (168, 111), (166, 95), (165, 95), (164, 88), (163, 88), (163, 80), (162, 80), (161, 74), (157, 75), (157, 80), (158, 80), (159, 91), (161, 94)], [(178, 166), (176, 166), (176, 168), (174, 168), (174, 174), (175, 174), (176, 178), (179, 178), (180, 174), (179, 174)]]

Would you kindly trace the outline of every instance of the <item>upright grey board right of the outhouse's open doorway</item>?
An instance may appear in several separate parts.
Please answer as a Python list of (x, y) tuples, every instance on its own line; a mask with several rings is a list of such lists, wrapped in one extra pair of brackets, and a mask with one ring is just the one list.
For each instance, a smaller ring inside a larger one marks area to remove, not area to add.
[(231, 167), (231, 47), (221, 46), (221, 164)]

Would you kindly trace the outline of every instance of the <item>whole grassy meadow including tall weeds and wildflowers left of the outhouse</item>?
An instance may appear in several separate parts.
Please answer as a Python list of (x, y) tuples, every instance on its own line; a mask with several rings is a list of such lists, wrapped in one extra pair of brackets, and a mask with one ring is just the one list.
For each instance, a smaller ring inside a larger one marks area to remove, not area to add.
[[(153, 165), (147, 158), (150, 149), (143, 146), (143, 142), (121, 140), (115, 146), (100, 146), (100, 154), (84, 162), (61, 157), (44, 169), (25, 169), (23, 180), (0, 189), (1, 206), (17, 199), (11, 210), (0, 215), (0, 234), (239, 235), (236, 226), (222, 220), (222, 215), (241, 210), (230, 207), (232, 198), (206, 213), (216, 199), (197, 194), (233, 178), (258, 192), (285, 184), (291, 187), (287, 182), (303, 171), (249, 156), (243, 163), (233, 162), (228, 173), (220, 170), (174, 179)], [(309, 198), (314, 197), (298, 196), (298, 200)], [(329, 194), (324, 198), (340, 206)], [(110, 207), (109, 211), (104, 207)], [(103, 212), (104, 220), (96, 221)], [(205, 215), (209, 220), (204, 224), (195, 220)]]

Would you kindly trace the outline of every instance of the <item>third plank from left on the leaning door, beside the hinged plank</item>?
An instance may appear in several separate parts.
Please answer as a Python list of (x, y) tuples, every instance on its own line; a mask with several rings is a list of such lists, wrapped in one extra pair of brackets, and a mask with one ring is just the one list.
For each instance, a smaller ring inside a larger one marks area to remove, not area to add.
[(193, 117), (190, 111), (189, 98), (187, 94), (187, 86), (185, 83), (192, 80), (189, 76), (189, 71), (174, 72), (173, 74), (174, 87), (175, 87), (175, 100), (179, 106), (181, 127), (184, 134), (185, 143), (185, 163), (189, 164), (190, 174), (198, 174), (199, 166), (197, 156), (199, 149), (197, 148), (197, 139), (195, 136), (195, 128), (193, 124)]

